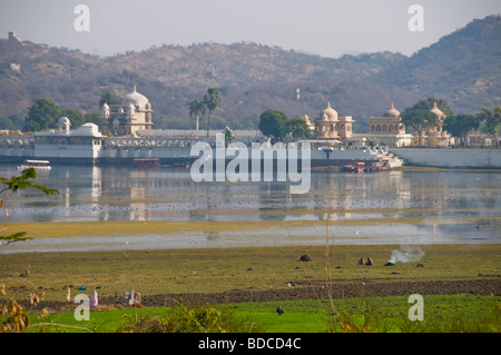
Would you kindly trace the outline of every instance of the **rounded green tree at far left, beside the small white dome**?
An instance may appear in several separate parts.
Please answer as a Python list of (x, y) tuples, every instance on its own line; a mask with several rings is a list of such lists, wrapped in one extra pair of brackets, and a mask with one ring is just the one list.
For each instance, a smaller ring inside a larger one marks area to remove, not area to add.
[(55, 127), (61, 109), (52, 100), (36, 99), (28, 110), (23, 131), (37, 131)]

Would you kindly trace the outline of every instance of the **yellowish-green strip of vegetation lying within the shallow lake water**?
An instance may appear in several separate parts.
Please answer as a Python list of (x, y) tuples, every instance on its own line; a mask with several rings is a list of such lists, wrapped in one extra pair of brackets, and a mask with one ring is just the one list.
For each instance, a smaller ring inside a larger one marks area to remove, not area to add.
[[(495, 194), (495, 190), (485, 190), (485, 193)], [(440, 194), (440, 191), (436, 191)], [(488, 209), (488, 208), (485, 208)], [(454, 211), (454, 210), (450, 210)], [(470, 210), (458, 209), (456, 211), (470, 213)], [(481, 208), (477, 208), (475, 213), (482, 211)], [(273, 210), (259, 210), (256, 213), (255, 209), (252, 210), (234, 210), (228, 211), (225, 209), (213, 210), (212, 215), (245, 215), (249, 214), (269, 214), (274, 216), (281, 216), (282, 214), (288, 215), (335, 215), (345, 214), (344, 208), (295, 208), (281, 209), (274, 208)], [(405, 213), (407, 216), (402, 216)], [(193, 213), (194, 215), (196, 213)], [(204, 215), (205, 211), (199, 211)], [(393, 223), (397, 224), (409, 224), (413, 226), (429, 225), (431, 223), (441, 224), (444, 218), (439, 216), (440, 210), (436, 208), (351, 208), (350, 214), (352, 216), (360, 215), (362, 218), (350, 218), (350, 219), (338, 219), (335, 221), (335, 226), (387, 226)], [(381, 216), (371, 216), (373, 214), (379, 214)], [(414, 214), (415, 216), (409, 216)], [(478, 216), (456, 216), (448, 217), (448, 221), (452, 220), (456, 224), (466, 224), (471, 228), (477, 226), (480, 221), (485, 218), (479, 218)], [(489, 217), (490, 221), (500, 221), (501, 216)], [(189, 220), (189, 221), (167, 221), (167, 220), (128, 220), (128, 221), (58, 221), (58, 223), (43, 223), (43, 221), (31, 221), (31, 223), (6, 223), (1, 224), (1, 230), (3, 234), (13, 234), (17, 231), (26, 231), (28, 237), (32, 238), (66, 238), (66, 237), (110, 237), (110, 236), (169, 236), (169, 235), (183, 235), (185, 233), (196, 233), (202, 235), (207, 235), (210, 233), (255, 233), (256, 235), (269, 234), (271, 229), (278, 230), (294, 230), (297, 228), (327, 228), (333, 226), (325, 220), (308, 220), (308, 219), (297, 219), (297, 220), (236, 220), (236, 221), (222, 221), (222, 220)]]

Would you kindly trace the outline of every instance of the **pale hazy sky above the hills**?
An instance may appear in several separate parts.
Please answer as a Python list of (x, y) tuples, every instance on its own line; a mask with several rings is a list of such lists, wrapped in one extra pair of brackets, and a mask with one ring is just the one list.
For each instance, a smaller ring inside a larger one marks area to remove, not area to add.
[[(78, 4), (89, 31), (77, 31)], [(423, 31), (410, 31), (412, 4)], [(390, 50), (411, 56), (501, 12), (501, 0), (0, 0), (0, 38), (78, 48), (100, 56), (153, 46), (252, 41), (337, 58)]]

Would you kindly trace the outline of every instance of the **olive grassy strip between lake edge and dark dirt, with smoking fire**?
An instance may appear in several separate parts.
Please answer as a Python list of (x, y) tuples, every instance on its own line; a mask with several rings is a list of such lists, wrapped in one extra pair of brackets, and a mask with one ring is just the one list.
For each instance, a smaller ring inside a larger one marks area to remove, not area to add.
[[(7, 295), (65, 300), (85, 286), (102, 297), (135, 288), (143, 295), (279, 289), (289, 283), (379, 279), (436, 280), (499, 278), (501, 245), (425, 245), (419, 262), (384, 266), (399, 246), (267, 247), (0, 255)], [(307, 255), (310, 262), (301, 262)], [(372, 266), (358, 265), (371, 257)], [(416, 267), (416, 263), (423, 267)], [(1, 296), (0, 296), (1, 297)]]

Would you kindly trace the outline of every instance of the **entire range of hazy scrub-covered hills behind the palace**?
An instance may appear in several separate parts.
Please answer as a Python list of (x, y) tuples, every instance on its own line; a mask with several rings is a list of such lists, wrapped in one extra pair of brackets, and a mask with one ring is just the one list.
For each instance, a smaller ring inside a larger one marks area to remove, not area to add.
[(412, 57), (377, 52), (331, 59), (240, 42), (99, 58), (0, 40), (0, 116), (26, 116), (36, 98), (98, 111), (104, 92), (125, 93), (132, 85), (149, 98), (156, 128), (194, 127), (187, 103), (209, 87), (219, 88), (223, 98), (214, 125), (232, 128), (256, 128), (268, 108), (313, 118), (327, 101), (340, 115), (353, 116), (358, 132), (391, 102), (403, 110), (434, 96), (456, 111), (475, 112), (501, 105), (500, 23), (494, 16), (475, 20)]

